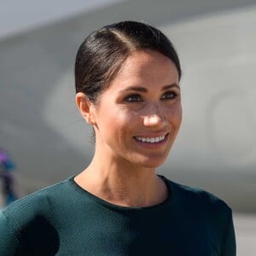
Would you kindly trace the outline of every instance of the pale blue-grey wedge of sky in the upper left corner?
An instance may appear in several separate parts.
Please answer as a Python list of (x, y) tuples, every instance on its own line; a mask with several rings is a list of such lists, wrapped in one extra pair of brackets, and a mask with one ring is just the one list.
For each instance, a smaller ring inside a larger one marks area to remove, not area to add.
[(0, 0), (0, 40), (124, 0)]

